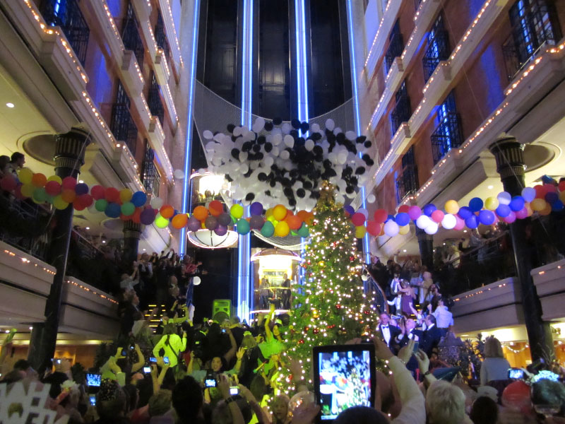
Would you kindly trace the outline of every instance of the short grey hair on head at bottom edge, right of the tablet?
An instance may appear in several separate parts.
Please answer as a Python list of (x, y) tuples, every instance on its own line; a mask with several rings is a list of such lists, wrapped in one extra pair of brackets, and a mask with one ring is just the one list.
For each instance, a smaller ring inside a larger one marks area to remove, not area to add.
[(426, 394), (430, 424), (459, 424), (465, 418), (465, 394), (459, 387), (444, 381), (433, 382)]

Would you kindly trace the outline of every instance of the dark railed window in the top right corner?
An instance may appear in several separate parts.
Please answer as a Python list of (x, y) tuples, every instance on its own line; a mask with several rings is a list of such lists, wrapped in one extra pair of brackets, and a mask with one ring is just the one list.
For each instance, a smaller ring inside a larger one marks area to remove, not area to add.
[(518, 0), (509, 15), (512, 32), (502, 45), (502, 51), (511, 80), (544, 43), (555, 45), (561, 39), (561, 28), (550, 0)]

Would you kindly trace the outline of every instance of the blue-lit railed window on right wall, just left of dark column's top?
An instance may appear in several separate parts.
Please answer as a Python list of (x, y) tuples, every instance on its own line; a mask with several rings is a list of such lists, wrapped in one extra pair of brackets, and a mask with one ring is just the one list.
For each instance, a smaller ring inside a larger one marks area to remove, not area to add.
[(456, 110), (453, 91), (449, 93), (446, 100), (439, 105), (437, 111), (438, 125), (432, 134), (432, 154), (434, 165), (446, 155), (452, 148), (459, 147), (463, 143), (461, 134), (461, 122)]

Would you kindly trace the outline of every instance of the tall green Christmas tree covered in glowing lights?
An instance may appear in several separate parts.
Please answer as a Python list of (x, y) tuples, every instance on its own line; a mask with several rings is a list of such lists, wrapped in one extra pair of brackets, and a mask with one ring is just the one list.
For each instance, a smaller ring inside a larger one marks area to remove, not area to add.
[(278, 377), (278, 388), (289, 395), (298, 380), (312, 383), (308, 376), (314, 346), (367, 336), (376, 324), (376, 310), (364, 293), (355, 227), (343, 205), (335, 204), (334, 187), (328, 182), (323, 182), (309, 230), (302, 264), (304, 283), (292, 291), (292, 328), (287, 331), (283, 355), (283, 362), (300, 361), (302, 376), (280, 368)]

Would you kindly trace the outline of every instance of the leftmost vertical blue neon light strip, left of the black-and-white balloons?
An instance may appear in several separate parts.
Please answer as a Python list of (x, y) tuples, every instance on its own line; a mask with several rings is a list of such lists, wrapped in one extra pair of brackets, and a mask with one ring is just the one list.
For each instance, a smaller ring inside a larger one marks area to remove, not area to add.
[[(187, 200), (189, 198), (189, 183), (191, 170), (191, 147), (192, 147), (192, 121), (194, 108), (194, 81), (196, 81), (196, 50), (198, 49), (198, 14), (200, 12), (200, 0), (194, 0), (194, 21), (192, 23), (192, 51), (190, 58), (190, 79), (189, 79), (189, 107), (188, 122), (186, 124), (186, 145), (184, 148), (184, 180), (182, 185), (182, 212), (186, 210)], [(186, 252), (186, 228), (181, 230), (179, 252)]]

